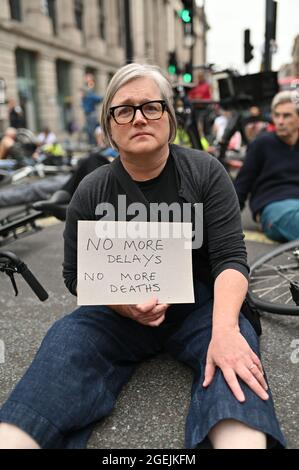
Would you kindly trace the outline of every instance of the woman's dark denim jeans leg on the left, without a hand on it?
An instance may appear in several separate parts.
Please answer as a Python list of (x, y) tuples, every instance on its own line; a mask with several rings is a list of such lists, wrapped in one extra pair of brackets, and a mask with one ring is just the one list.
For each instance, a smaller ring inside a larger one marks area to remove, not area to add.
[(150, 327), (106, 307), (81, 307), (49, 330), (0, 421), (43, 448), (82, 448), (135, 366), (158, 349)]

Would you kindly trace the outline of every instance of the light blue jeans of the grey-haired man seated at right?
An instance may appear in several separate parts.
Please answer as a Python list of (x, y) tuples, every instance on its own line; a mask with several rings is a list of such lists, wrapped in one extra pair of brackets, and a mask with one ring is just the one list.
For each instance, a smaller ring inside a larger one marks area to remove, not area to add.
[(263, 232), (271, 240), (286, 242), (299, 238), (299, 199), (268, 204), (261, 213)]

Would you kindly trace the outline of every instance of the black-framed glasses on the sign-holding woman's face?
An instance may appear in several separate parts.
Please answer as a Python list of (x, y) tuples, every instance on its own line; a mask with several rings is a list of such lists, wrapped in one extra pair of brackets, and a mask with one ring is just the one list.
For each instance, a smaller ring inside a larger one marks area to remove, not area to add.
[(113, 117), (116, 124), (129, 124), (129, 122), (134, 121), (137, 109), (141, 111), (145, 119), (157, 121), (163, 116), (166, 109), (166, 102), (164, 100), (153, 100), (139, 104), (138, 106), (132, 104), (112, 106), (112, 108), (109, 109), (109, 114)]

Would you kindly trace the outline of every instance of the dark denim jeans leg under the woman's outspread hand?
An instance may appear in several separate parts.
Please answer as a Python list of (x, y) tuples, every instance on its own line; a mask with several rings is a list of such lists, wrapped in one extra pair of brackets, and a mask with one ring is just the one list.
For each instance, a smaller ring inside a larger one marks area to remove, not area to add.
[[(209, 444), (207, 439), (209, 431), (224, 419), (243, 422), (267, 434), (269, 446), (284, 447), (286, 443), (275, 416), (270, 391), (269, 400), (263, 401), (242, 380), (239, 380), (246, 397), (245, 403), (240, 403), (234, 397), (219, 368), (216, 369), (209, 387), (202, 386), (211, 339), (212, 308), (212, 299), (199, 305), (166, 343), (168, 351), (194, 371), (191, 403), (186, 420), (186, 447), (195, 448), (199, 444), (206, 447)], [(239, 325), (242, 335), (259, 356), (258, 337), (242, 314)]]

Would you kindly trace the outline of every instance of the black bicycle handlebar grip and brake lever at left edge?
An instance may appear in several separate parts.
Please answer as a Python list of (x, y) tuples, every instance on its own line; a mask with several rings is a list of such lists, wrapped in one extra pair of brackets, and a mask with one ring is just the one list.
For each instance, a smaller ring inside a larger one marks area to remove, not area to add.
[(0, 251), (0, 272), (5, 273), (11, 280), (15, 295), (18, 295), (18, 288), (14, 278), (15, 274), (21, 274), (29, 287), (41, 302), (48, 299), (49, 295), (43, 288), (28, 266), (10, 251)]

